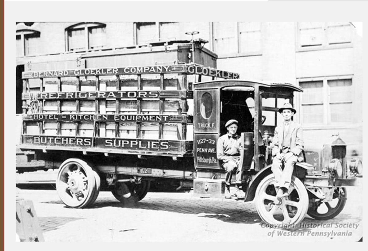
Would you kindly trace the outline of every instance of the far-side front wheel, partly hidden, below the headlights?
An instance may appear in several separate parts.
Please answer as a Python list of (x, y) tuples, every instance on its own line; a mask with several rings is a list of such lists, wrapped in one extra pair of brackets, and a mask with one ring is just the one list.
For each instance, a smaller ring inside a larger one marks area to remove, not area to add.
[(316, 201), (308, 209), (308, 215), (316, 220), (328, 220), (337, 216), (346, 204), (346, 189), (344, 187), (336, 188), (332, 201)]

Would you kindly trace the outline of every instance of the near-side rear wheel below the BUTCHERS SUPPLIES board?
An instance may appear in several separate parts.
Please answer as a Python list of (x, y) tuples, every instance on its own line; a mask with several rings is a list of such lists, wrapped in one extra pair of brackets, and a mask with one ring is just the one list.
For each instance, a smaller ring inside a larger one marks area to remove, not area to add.
[(85, 161), (67, 159), (59, 167), (56, 191), (63, 203), (72, 208), (92, 205), (100, 190), (100, 177)]

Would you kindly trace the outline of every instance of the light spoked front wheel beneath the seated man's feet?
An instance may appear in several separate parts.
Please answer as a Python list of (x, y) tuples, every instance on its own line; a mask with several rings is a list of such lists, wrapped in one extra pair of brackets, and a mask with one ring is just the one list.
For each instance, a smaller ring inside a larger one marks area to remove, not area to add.
[(279, 198), (276, 194), (275, 177), (270, 174), (259, 183), (255, 194), (258, 215), (269, 225), (290, 228), (301, 222), (308, 211), (308, 192), (295, 176), (291, 179), (289, 196)]

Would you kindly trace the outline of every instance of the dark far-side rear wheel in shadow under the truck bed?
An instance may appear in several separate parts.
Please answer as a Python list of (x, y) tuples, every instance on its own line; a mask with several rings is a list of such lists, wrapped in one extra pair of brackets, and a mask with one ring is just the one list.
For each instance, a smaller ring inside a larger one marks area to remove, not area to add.
[[(111, 192), (114, 197), (121, 203), (125, 203), (127, 201), (137, 202), (146, 196), (150, 184), (151, 181), (149, 180), (142, 180), (139, 184), (118, 183), (115, 185)], [(126, 196), (124, 197), (124, 194), (127, 194), (128, 191), (130, 192), (131, 196), (129, 198), (126, 198)]]

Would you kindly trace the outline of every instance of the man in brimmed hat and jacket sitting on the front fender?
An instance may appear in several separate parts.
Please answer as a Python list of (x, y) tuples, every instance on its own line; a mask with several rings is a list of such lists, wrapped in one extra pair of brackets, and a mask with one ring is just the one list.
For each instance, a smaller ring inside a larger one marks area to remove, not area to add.
[[(300, 124), (291, 120), (291, 117), (296, 113), (293, 106), (290, 103), (284, 103), (279, 109), (279, 113), (282, 114), (284, 122), (275, 128), (271, 170), (275, 175), (275, 187), (280, 188), (277, 196), (287, 197), (294, 164), (304, 160), (302, 154), (304, 142)], [(284, 169), (282, 169), (282, 164), (284, 164)]]

